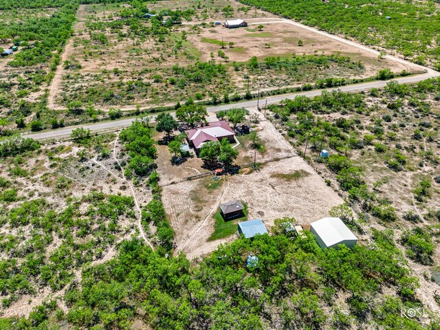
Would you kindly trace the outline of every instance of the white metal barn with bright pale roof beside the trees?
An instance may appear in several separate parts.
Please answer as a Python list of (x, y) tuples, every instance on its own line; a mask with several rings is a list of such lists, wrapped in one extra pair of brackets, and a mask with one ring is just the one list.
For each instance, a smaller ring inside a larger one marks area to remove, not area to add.
[(322, 249), (338, 248), (339, 244), (353, 248), (358, 241), (358, 238), (339, 218), (323, 218), (312, 222), (310, 231), (315, 235)]

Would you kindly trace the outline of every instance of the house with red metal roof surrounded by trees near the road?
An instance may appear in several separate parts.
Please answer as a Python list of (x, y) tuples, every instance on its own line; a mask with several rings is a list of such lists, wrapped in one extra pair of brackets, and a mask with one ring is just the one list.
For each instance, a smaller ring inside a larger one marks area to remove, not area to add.
[(218, 122), (210, 122), (208, 126), (199, 127), (198, 129), (190, 129), (186, 131), (190, 146), (198, 152), (200, 148), (208, 141), (221, 141), (223, 138), (234, 142), (235, 132), (230, 128), (228, 122), (220, 120)]

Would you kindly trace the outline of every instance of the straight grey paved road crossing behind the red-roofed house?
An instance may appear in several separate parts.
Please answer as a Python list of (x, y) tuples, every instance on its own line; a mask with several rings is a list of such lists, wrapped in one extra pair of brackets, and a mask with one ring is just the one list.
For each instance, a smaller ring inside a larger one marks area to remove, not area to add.
[[(426, 74), (419, 74), (417, 76), (408, 76), (408, 77), (402, 77), (402, 78), (396, 78), (393, 79), (401, 84), (410, 84), (410, 83), (418, 83), (421, 80), (426, 80), (428, 78), (434, 78), (439, 77), (440, 73), (435, 72), (434, 70), (429, 70)], [(285, 100), (286, 98), (292, 100), (296, 98), (296, 96), (307, 96), (309, 98), (312, 98), (314, 96), (318, 96), (322, 93), (322, 91), (332, 91), (336, 89), (340, 89), (341, 91), (366, 91), (372, 88), (382, 88), (385, 87), (387, 83), (389, 83), (391, 80), (379, 80), (379, 81), (371, 81), (368, 83), (360, 83), (355, 85), (346, 85), (336, 88), (329, 88), (329, 89), (316, 89), (313, 91), (300, 91), (296, 93), (291, 94), (283, 94), (278, 96), (270, 96), (267, 98), (267, 104), (276, 104), (279, 103), (281, 100)], [(263, 107), (265, 105), (266, 98), (260, 99), (260, 107)], [(208, 112), (218, 112), (218, 111), (224, 111), (231, 108), (236, 107), (256, 107), (257, 100), (250, 100), (250, 101), (243, 101), (238, 103), (231, 103), (231, 104), (223, 104), (216, 107), (208, 107)], [(174, 114), (174, 113), (173, 113)], [(151, 115), (152, 121), (154, 122), (154, 119), (156, 115)], [(96, 124), (84, 124), (79, 126), (69, 126), (64, 129), (55, 129), (52, 131), (45, 131), (40, 133), (25, 133), (24, 136), (32, 137), (35, 140), (50, 140), (50, 139), (63, 139), (66, 137), (69, 137), (72, 133), (72, 130), (78, 128), (78, 127), (84, 127), (85, 129), (89, 129), (91, 132), (106, 132), (106, 131), (117, 131), (118, 129), (123, 129), (124, 127), (130, 126), (131, 122), (133, 122), (135, 118), (124, 118), (121, 120), (112, 120), (108, 122), (99, 122)]]

